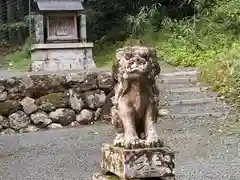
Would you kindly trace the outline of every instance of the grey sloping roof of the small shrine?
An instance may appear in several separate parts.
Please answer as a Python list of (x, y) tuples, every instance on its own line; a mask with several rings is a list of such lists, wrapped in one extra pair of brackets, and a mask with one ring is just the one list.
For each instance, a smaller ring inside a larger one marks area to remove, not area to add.
[(36, 0), (40, 11), (80, 11), (81, 0)]

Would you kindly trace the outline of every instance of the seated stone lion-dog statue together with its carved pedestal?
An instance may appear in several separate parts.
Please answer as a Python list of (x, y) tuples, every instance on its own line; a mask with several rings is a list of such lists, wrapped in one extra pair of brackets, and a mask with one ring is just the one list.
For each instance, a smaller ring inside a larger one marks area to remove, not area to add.
[(113, 143), (102, 145), (102, 172), (94, 174), (93, 180), (175, 180), (174, 153), (154, 126), (159, 104), (155, 78), (160, 71), (153, 48), (133, 46), (117, 51), (111, 109), (116, 137)]

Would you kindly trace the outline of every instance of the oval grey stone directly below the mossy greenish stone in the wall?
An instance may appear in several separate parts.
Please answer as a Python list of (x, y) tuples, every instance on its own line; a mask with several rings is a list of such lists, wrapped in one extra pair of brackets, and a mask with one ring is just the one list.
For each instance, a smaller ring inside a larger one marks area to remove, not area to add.
[(70, 124), (76, 120), (76, 114), (71, 109), (60, 108), (49, 114), (49, 117), (54, 123), (59, 123), (63, 126)]

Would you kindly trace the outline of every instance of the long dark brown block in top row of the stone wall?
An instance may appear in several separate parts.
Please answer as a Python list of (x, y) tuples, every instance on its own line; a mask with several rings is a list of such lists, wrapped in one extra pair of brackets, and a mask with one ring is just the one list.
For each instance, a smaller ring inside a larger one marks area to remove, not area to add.
[(25, 86), (25, 94), (38, 98), (49, 93), (63, 92), (66, 78), (62, 75), (28, 75), (21, 78)]

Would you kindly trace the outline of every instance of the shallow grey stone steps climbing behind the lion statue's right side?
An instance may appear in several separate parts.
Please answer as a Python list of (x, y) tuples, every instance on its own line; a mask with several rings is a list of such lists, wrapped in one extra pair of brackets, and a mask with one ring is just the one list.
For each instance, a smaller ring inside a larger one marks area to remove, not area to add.
[(198, 124), (202, 119), (220, 118), (228, 111), (215, 93), (199, 83), (198, 74), (197, 70), (164, 73), (157, 82), (160, 98), (166, 100), (162, 109), (167, 109), (176, 121), (189, 119)]

